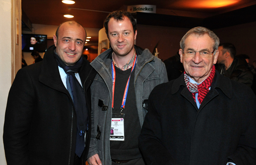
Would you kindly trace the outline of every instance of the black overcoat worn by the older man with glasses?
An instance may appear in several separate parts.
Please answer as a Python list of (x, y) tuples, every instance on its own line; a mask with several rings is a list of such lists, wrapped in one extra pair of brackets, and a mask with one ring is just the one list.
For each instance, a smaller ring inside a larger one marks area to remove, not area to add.
[(198, 109), (182, 74), (151, 92), (139, 147), (148, 165), (256, 165), (256, 96), (216, 72)]

